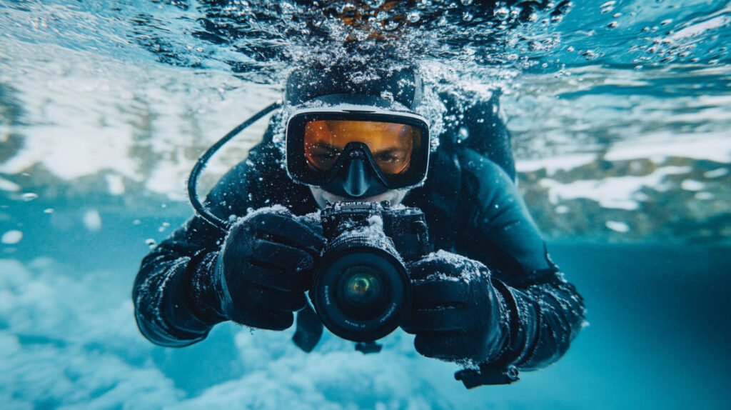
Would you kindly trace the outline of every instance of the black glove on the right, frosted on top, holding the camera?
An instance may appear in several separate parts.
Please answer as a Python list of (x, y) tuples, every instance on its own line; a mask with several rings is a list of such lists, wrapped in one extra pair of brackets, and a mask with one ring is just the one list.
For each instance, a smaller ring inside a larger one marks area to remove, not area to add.
[(489, 362), (504, 343), (502, 303), (482, 263), (439, 251), (409, 266), (412, 311), (401, 327), (426, 357)]

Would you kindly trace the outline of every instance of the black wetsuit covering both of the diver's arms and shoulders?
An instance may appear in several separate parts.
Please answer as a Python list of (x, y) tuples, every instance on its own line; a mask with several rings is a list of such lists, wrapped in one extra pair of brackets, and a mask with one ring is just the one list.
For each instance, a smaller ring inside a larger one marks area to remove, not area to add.
[[(483, 132), (493, 126), (493, 135), (508, 137), (501, 122), (485, 124)], [(281, 166), (271, 129), (208, 195), (207, 206), (219, 218), (274, 204), (295, 215), (318, 209), (309, 189), (293, 183)], [(509, 149), (510, 144), (499, 146)], [(491, 269), (493, 286), (510, 305), (510, 338), (499, 360), (521, 369), (540, 368), (569, 348), (582, 327), (583, 300), (548, 259), (509, 175), (515, 172), (512, 157), (497, 152), (495, 159), (501, 164), (465, 143), (442, 139), (427, 183), (410, 191), (404, 204), (424, 211), (436, 249)], [(204, 280), (214, 269), (223, 240), (223, 232), (194, 216), (143, 259), (132, 297), (146, 338), (162, 346), (188, 346), (224, 320), (210, 308), (214, 292)]]

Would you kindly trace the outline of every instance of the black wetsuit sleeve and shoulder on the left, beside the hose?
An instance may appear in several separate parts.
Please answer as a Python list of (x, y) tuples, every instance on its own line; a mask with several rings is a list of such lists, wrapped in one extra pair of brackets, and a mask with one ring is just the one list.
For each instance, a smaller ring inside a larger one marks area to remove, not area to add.
[[(306, 186), (292, 183), (281, 167), (281, 151), (272, 143), (277, 121), (271, 119), (262, 143), (208, 194), (205, 205), (219, 219), (274, 204), (300, 215), (317, 208)], [(188, 346), (225, 320), (221, 289), (211, 281), (224, 237), (221, 229), (193, 216), (143, 259), (132, 300), (145, 338), (162, 346)]]

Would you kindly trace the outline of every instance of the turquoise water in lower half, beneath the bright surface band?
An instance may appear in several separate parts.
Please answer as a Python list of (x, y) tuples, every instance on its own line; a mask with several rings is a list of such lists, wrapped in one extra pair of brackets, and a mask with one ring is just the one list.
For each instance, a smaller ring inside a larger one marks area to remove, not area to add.
[[(586, 298), (591, 324), (556, 365), (524, 372), (518, 384), (467, 391), (451, 365), (410, 352), (403, 333), (372, 356), (327, 338), (308, 357), (291, 346), (291, 331), (229, 324), (186, 349), (153, 347), (137, 334), (128, 299), (143, 240), (159, 221), (131, 225), (118, 218), (104, 235), (29, 243), (43, 250), (18, 255), (26, 267), (4, 263), (3, 299), (12, 303), (0, 311), (5, 403), (724, 409), (730, 399), (727, 248), (550, 244)], [(40, 255), (47, 259), (26, 259)]]

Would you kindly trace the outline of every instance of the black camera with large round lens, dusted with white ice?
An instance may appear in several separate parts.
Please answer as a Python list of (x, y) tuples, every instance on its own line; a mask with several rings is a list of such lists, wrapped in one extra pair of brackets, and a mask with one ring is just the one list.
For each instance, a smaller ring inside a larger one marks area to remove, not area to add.
[(320, 219), (327, 246), (309, 295), (322, 324), (356, 342), (393, 332), (411, 305), (406, 264), (431, 251), (424, 213), (388, 202), (338, 202)]

